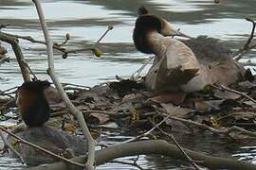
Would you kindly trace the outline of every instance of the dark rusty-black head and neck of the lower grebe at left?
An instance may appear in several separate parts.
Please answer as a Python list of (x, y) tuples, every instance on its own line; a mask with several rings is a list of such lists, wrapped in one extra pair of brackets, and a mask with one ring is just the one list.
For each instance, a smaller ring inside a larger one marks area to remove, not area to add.
[(18, 88), (16, 104), (27, 127), (42, 127), (49, 119), (50, 109), (45, 90), (48, 81), (27, 81)]

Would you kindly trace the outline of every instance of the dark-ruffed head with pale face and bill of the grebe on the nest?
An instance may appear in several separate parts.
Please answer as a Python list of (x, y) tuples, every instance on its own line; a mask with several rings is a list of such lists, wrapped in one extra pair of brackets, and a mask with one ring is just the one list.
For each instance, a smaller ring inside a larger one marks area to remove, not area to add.
[(151, 44), (148, 37), (151, 33), (158, 32), (162, 36), (175, 36), (179, 34), (166, 20), (155, 15), (145, 14), (137, 18), (133, 39), (137, 50), (151, 54)]

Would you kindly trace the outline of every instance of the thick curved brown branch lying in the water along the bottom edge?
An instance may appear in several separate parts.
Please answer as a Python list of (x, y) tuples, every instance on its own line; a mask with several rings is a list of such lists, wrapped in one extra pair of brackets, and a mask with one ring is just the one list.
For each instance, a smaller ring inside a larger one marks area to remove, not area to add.
[[(192, 151), (190, 149), (183, 148), (183, 150), (193, 159), (198, 160), (198, 164), (207, 166), (210, 169), (247, 169), (254, 170), (256, 165), (247, 161), (237, 161), (227, 158), (212, 157), (204, 155), (199, 152)], [(96, 151), (95, 161), (97, 165), (109, 162), (111, 160), (135, 156), (135, 155), (151, 155), (158, 154), (162, 156), (173, 157), (178, 160), (187, 160), (187, 158), (180, 152), (178, 147), (174, 144), (169, 144), (163, 140), (149, 140), (149, 141), (138, 141), (128, 144), (119, 144), (101, 150)], [(84, 162), (85, 157), (76, 157), (71, 160)], [(37, 167), (29, 168), (30, 170), (72, 170), (75, 167), (68, 166), (64, 162), (56, 162), (48, 165), (42, 165)]]

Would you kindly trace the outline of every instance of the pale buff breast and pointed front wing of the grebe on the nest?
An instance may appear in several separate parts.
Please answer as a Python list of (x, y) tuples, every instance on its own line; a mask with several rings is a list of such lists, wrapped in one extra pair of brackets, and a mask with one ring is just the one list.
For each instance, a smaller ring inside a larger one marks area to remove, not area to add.
[(170, 38), (165, 41), (164, 55), (156, 57), (145, 83), (154, 91), (179, 91), (181, 85), (197, 76), (199, 65), (192, 50), (183, 42)]

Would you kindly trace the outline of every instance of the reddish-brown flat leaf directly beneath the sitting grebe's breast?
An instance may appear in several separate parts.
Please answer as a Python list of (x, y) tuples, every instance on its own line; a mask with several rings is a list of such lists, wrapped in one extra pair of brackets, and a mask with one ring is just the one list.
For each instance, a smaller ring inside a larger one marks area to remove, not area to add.
[(151, 97), (149, 100), (154, 101), (155, 103), (174, 103), (175, 105), (179, 105), (185, 100), (186, 95), (186, 93), (181, 92), (163, 93)]

